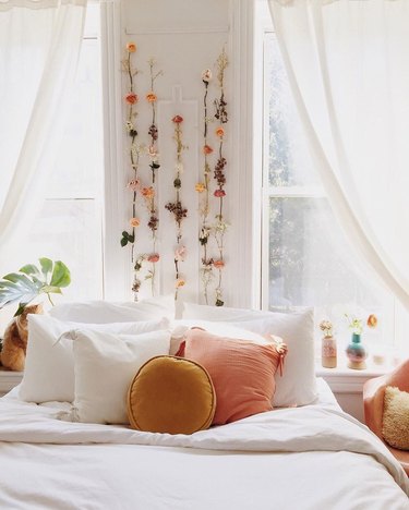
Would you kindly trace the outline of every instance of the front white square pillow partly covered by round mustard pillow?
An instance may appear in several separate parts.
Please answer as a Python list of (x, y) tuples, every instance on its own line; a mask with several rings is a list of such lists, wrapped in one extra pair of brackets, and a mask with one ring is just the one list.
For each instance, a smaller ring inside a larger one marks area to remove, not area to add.
[(127, 393), (141, 366), (169, 353), (170, 332), (115, 336), (75, 330), (63, 337), (74, 347), (74, 420), (128, 424)]

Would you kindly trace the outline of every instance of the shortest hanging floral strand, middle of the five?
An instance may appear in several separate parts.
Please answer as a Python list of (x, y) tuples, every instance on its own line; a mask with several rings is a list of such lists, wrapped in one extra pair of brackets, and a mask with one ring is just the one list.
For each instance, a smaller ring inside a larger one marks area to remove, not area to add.
[(176, 116), (172, 119), (175, 124), (175, 136), (173, 139), (176, 142), (177, 148), (177, 159), (176, 159), (176, 177), (173, 180), (173, 186), (176, 190), (176, 197), (175, 202), (169, 202), (166, 204), (165, 208), (169, 210), (175, 216), (175, 222), (177, 226), (177, 233), (176, 233), (176, 242), (177, 246), (175, 250), (175, 300), (178, 299), (178, 292), (181, 287), (184, 286), (185, 280), (180, 275), (179, 263), (184, 262), (187, 255), (187, 248), (182, 244), (182, 220), (188, 216), (188, 209), (182, 206), (180, 201), (180, 190), (182, 187), (182, 180), (181, 174), (183, 172), (183, 163), (182, 163), (182, 153), (187, 149), (187, 146), (182, 143), (182, 130), (181, 123), (183, 122), (183, 118), (181, 116)]

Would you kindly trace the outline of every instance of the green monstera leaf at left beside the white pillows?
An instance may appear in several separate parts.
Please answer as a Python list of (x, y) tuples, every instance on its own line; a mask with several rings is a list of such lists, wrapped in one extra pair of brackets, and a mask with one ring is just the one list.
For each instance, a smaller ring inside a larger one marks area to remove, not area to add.
[(0, 280), (0, 308), (19, 303), (14, 315), (20, 315), (24, 307), (39, 294), (61, 294), (61, 288), (71, 283), (70, 270), (61, 260), (52, 262), (40, 258), (39, 267), (27, 264), (19, 272), (10, 272)]

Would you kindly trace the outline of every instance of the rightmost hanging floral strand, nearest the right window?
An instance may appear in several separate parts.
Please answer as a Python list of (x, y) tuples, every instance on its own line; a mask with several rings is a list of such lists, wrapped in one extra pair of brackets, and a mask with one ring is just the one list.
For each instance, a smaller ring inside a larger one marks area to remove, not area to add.
[(221, 53), (219, 54), (216, 61), (217, 68), (217, 81), (218, 86), (220, 88), (220, 97), (219, 99), (215, 99), (215, 119), (220, 123), (220, 125), (216, 129), (216, 136), (219, 139), (219, 148), (218, 148), (218, 159), (215, 167), (214, 179), (217, 184), (217, 189), (214, 192), (214, 196), (218, 201), (218, 214), (216, 215), (216, 222), (213, 227), (213, 235), (216, 240), (216, 245), (218, 250), (218, 259), (215, 259), (213, 266), (218, 271), (218, 281), (216, 287), (216, 306), (222, 306), (225, 304), (222, 300), (222, 269), (225, 267), (225, 257), (224, 257), (224, 241), (225, 241), (225, 233), (227, 230), (228, 224), (225, 221), (222, 205), (224, 205), (224, 197), (226, 196), (225, 185), (226, 185), (226, 174), (225, 168), (227, 165), (227, 160), (224, 156), (224, 142), (225, 142), (225, 129), (221, 124), (227, 124), (228, 116), (227, 116), (227, 102), (225, 100), (225, 71), (228, 66), (229, 61), (225, 51), (222, 49)]

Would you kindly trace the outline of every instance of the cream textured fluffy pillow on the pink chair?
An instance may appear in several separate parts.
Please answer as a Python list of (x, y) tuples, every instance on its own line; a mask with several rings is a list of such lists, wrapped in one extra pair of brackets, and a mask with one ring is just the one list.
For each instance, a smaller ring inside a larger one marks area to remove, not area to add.
[(409, 450), (409, 393), (387, 386), (384, 397), (382, 435), (399, 450)]

